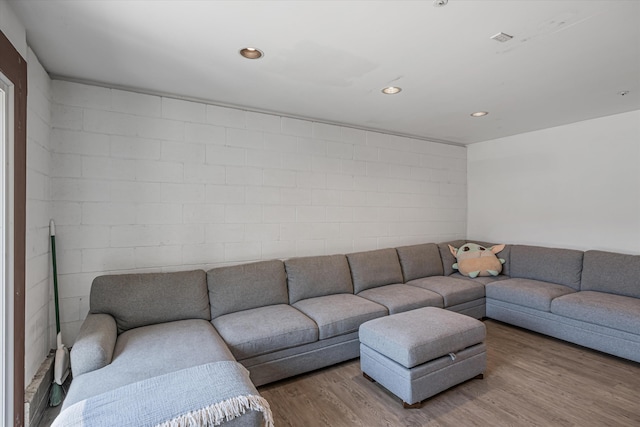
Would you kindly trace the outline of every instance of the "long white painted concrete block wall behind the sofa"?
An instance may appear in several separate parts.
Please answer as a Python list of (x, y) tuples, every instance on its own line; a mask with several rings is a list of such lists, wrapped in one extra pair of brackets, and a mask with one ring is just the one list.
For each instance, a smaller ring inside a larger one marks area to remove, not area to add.
[(101, 274), (466, 235), (466, 149), (54, 80), (65, 341)]

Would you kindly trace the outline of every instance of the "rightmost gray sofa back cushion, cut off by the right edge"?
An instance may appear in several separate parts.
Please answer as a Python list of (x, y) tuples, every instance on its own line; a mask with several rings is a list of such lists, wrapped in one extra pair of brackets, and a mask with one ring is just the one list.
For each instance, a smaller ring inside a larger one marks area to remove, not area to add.
[(580, 290), (640, 298), (640, 255), (585, 252)]

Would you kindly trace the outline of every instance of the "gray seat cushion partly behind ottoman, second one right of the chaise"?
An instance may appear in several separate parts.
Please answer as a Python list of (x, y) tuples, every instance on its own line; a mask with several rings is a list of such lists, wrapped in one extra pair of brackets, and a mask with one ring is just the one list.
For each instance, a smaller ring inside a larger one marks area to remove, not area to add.
[(317, 323), (321, 340), (355, 332), (367, 320), (388, 314), (386, 307), (353, 294), (309, 298), (293, 306)]

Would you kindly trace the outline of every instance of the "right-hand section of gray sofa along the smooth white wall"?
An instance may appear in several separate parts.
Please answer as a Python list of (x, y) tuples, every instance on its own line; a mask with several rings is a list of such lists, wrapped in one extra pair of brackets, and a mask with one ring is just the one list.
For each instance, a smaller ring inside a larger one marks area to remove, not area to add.
[(514, 245), (487, 317), (640, 362), (640, 256)]

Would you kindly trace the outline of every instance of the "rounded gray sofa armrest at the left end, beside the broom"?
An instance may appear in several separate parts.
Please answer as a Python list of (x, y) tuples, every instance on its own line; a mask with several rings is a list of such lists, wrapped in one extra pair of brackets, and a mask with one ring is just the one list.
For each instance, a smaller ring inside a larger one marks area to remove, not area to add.
[(112, 316), (89, 314), (71, 348), (73, 375), (77, 377), (110, 364), (117, 337), (116, 321)]

